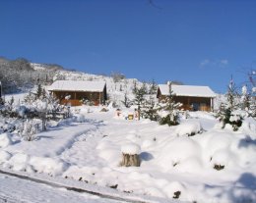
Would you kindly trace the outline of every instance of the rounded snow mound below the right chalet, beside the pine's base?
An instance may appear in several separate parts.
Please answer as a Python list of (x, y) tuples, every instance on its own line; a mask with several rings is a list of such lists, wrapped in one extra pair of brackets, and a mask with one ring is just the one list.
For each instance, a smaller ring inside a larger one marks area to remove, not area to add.
[(178, 136), (181, 136), (181, 135), (190, 136), (190, 135), (199, 133), (201, 131), (202, 131), (202, 126), (198, 121), (188, 121), (188, 122), (182, 123), (179, 126), (177, 126), (175, 129), (175, 133)]

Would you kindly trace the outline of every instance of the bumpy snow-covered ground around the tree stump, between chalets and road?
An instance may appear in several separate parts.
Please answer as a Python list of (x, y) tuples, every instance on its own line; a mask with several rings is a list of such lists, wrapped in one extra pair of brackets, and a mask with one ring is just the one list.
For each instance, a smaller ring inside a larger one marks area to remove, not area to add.
[[(115, 109), (100, 109), (76, 107), (86, 118), (83, 123), (52, 126), (31, 142), (15, 133), (1, 134), (0, 167), (113, 187), (124, 195), (153, 196), (155, 202), (256, 202), (254, 120), (234, 132), (220, 127), (210, 113), (190, 113), (181, 125), (167, 127), (149, 120), (128, 121), (116, 117)], [(132, 150), (127, 146), (135, 144), (141, 166), (120, 167), (122, 149)], [(3, 186), (8, 178), (3, 179), (0, 193), (8, 190)]]

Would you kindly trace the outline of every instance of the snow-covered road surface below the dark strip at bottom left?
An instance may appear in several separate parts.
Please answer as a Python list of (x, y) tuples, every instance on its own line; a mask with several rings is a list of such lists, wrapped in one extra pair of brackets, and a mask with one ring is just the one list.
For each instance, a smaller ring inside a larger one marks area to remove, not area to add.
[(88, 193), (67, 190), (64, 187), (54, 187), (30, 180), (15, 178), (0, 174), (0, 202), (8, 203), (104, 203), (122, 202), (113, 199), (100, 198)]

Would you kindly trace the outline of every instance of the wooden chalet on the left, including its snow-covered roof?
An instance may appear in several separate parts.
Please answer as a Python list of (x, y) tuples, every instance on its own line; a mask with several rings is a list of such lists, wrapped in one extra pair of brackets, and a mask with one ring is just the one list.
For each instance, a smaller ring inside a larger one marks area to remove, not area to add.
[(105, 104), (106, 83), (104, 81), (56, 80), (48, 88), (59, 99), (60, 104), (80, 106), (83, 101), (94, 105)]

